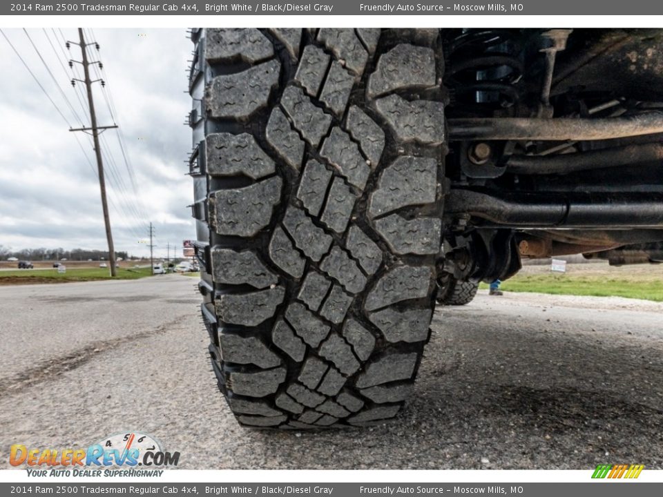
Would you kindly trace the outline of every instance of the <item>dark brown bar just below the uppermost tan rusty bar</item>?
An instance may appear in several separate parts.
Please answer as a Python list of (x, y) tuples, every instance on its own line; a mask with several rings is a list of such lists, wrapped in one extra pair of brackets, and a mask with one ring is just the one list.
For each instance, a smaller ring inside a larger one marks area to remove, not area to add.
[(509, 173), (528, 175), (568, 174), (578, 171), (644, 164), (663, 160), (663, 144), (624, 145), (562, 155), (512, 155), (506, 162)]

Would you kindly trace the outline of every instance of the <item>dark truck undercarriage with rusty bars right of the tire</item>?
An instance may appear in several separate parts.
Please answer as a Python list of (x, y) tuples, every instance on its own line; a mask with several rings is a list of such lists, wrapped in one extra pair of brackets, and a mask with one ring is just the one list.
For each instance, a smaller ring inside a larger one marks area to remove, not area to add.
[(445, 272), (504, 280), (521, 257), (577, 253), (663, 261), (661, 33), (445, 36)]

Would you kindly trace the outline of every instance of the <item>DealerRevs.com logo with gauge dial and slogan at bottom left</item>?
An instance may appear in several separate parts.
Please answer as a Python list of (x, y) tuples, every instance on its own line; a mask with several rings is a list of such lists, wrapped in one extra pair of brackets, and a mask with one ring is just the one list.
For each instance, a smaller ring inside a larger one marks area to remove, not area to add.
[(28, 476), (161, 476), (177, 466), (179, 452), (168, 452), (152, 436), (126, 431), (87, 448), (10, 447), (12, 466), (27, 466)]

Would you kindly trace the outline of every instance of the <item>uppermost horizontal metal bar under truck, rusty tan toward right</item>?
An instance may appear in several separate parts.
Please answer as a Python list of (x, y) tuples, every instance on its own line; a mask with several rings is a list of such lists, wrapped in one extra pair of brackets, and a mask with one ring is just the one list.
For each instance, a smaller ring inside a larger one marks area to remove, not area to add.
[(560, 117), (470, 117), (449, 119), (449, 139), (458, 140), (597, 140), (663, 133), (663, 113), (582, 119)]

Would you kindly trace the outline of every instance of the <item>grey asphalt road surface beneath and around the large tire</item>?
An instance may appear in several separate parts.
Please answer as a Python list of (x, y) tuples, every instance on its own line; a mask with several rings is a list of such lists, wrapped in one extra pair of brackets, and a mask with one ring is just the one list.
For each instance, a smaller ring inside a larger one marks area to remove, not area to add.
[(13, 443), (138, 430), (188, 469), (663, 468), (663, 304), (480, 292), (436, 311), (396, 421), (248, 431), (216, 389), (195, 282), (0, 287), (0, 465)]

